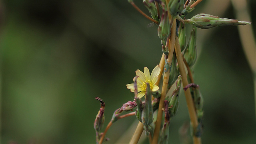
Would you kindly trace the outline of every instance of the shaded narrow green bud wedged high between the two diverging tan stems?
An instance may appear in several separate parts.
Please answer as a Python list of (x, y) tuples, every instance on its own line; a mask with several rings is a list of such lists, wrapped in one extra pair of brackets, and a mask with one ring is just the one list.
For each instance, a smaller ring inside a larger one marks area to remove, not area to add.
[(169, 82), (168, 82), (168, 89), (172, 87), (172, 84), (175, 83), (176, 79), (178, 78), (178, 68), (177, 68), (177, 59), (176, 59), (176, 54), (174, 52), (172, 56), (172, 65), (170, 67), (170, 77), (169, 77)]

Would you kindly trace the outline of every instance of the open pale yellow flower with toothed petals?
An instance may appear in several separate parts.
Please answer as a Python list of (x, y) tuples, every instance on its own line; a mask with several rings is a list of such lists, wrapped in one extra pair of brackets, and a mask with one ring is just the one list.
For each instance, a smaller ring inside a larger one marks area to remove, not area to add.
[[(160, 74), (160, 65), (156, 65), (153, 69), (151, 75), (147, 67), (144, 67), (144, 73), (140, 70), (136, 71), (136, 75), (139, 76), (137, 79), (137, 87), (138, 87), (138, 98), (142, 98), (146, 93), (146, 83), (149, 83), (151, 91), (158, 91), (159, 87), (156, 84), (158, 79), (158, 75)], [(134, 79), (133, 79), (134, 82)], [(130, 83), (126, 85), (127, 89), (130, 89), (131, 92), (134, 92), (134, 84)]]

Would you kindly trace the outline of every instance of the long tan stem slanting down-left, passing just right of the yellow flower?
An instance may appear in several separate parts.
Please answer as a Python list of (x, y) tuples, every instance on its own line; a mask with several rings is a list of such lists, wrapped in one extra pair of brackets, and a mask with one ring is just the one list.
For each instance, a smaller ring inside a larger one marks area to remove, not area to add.
[[(170, 64), (172, 61), (172, 56), (173, 56), (173, 51), (174, 51), (174, 39), (176, 36), (176, 19), (173, 22), (172, 29), (171, 29), (171, 36), (170, 36), (170, 43), (169, 43), (169, 54), (167, 61)], [(166, 91), (168, 87), (168, 81), (169, 81), (169, 76), (170, 76), (170, 69), (168, 69), (167, 72), (164, 73), (164, 81), (163, 81), (163, 86), (162, 86), (162, 92), (161, 92), (161, 97), (160, 97), (160, 102), (159, 102), (159, 107), (158, 107), (158, 114), (157, 114), (157, 119), (156, 119), (156, 128), (154, 130), (154, 135), (152, 139), (152, 144), (157, 144), (158, 142), (158, 136), (160, 132), (160, 127), (161, 127), (161, 122), (162, 122), (162, 108), (164, 107), (164, 99), (166, 96)]]

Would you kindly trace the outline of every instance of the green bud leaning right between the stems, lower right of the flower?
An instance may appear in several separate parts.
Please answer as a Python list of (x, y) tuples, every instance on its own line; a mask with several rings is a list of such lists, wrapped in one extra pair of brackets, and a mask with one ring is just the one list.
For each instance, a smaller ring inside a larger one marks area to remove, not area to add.
[(176, 87), (172, 93), (172, 96), (168, 99), (169, 105), (169, 113), (170, 113), (170, 118), (175, 116), (175, 114), (178, 111), (178, 101), (179, 101), (179, 94), (180, 94), (180, 87), (181, 87), (181, 75), (178, 76), (178, 80), (176, 82)]

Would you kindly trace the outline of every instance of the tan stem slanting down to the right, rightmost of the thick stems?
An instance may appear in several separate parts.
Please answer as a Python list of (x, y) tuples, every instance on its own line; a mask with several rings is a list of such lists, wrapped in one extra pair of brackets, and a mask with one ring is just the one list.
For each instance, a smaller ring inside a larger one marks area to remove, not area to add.
[[(180, 74), (181, 74), (181, 78), (182, 78), (182, 84), (183, 87), (186, 87), (186, 85), (188, 85), (188, 79), (187, 79), (187, 75), (186, 75), (186, 71), (185, 71), (185, 67), (183, 64), (183, 58), (182, 58), (182, 53), (180, 50), (180, 43), (179, 43), (179, 39), (176, 36), (175, 38), (175, 53), (177, 56), (177, 61), (178, 61), (178, 65), (179, 65), (179, 70), (180, 70)], [(184, 91), (185, 93), (185, 97), (186, 97), (186, 102), (187, 102), (187, 107), (188, 107), (188, 113), (189, 113), (189, 117), (190, 117), (190, 121), (193, 127), (193, 130), (195, 130), (198, 126), (198, 121), (197, 121), (197, 117), (196, 117), (196, 110), (194, 107), (194, 103), (193, 103), (193, 99), (190, 93), (190, 89), (187, 89), (186, 91)], [(193, 141), (194, 144), (201, 144), (201, 138), (193, 136)]]

